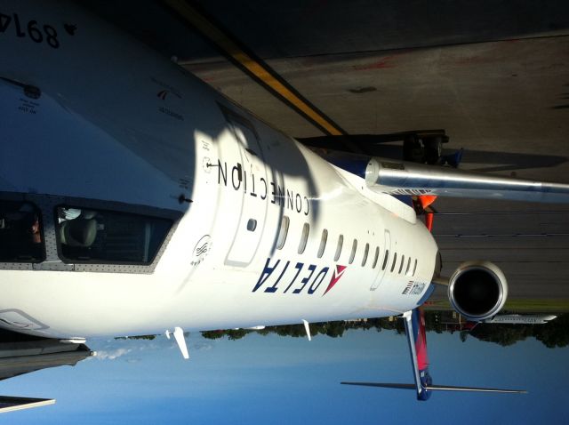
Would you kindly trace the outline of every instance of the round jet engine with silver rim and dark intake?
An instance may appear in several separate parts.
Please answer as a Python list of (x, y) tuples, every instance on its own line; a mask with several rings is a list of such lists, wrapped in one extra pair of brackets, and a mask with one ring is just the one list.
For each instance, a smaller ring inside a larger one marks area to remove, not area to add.
[(473, 322), (495, 316), (507, 298), (506, 277), (490, 261), (463, 262), (449, 279), (451, 306)]

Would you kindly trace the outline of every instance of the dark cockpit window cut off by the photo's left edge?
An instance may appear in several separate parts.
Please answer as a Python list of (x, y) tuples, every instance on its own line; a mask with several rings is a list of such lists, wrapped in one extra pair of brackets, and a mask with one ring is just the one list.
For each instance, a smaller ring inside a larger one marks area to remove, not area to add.
[(42, 215), (29, 202), (0, 200), (0, 261), (45, 260)]

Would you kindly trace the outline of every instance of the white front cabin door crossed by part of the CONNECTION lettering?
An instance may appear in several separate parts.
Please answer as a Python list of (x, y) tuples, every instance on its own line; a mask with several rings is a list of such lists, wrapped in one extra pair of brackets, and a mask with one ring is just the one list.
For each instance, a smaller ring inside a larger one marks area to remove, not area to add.
[(267, 172), (260, 140), (252, 124), (241, 116), (227, 115), (240, 157), (242, 203), (236, 205), (239, 221), (225, 264), (245, 267), (257, 253), (267, 216)]

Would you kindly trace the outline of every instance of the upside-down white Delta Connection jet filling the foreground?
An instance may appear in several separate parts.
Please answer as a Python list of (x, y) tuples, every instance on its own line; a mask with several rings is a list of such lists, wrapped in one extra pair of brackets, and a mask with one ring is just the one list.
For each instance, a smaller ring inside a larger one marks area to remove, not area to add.
[[(403, 315), (414, 352), (435, 285), (475, 321), (508, 290), (487, 261), (441, 277), (434, 238), (394, 196), (569, 201), (562, 184), (334, 165), (76, 4), (0, 7), (6, 329), (172, 332), (184, 348), (185, 331)], [(412, 358), (422, 399), (434, 387)]]

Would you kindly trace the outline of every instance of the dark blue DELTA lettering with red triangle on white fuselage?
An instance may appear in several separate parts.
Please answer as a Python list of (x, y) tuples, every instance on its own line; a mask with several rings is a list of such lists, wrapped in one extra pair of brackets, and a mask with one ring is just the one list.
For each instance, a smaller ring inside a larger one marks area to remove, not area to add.
[[(332, 277), (328, 281), (325, 296), (342, 276), (344, 276), (346, 266), (336, 265), (333, 269)], [(267, 259), (265, 267), (260, 273), (259, 280), (252, 288), (256, 293), (262, 289), (263, 293), (307, 293), (313, 295), (317, 289), (326, 281), (330, 268), (325, 266), (319, 268), (316, 264), (308, 264), (301, 261), (281, 261), (271, 262)]]

